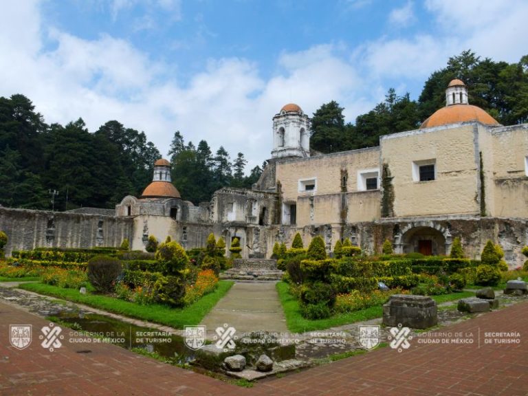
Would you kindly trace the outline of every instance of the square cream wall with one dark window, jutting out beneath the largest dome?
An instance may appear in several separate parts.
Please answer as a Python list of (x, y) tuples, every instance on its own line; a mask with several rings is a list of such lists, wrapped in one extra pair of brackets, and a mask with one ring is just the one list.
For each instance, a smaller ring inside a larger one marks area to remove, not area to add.
[[(476, 123), (382, 136), (382, 163), (393, 176), (396, 217), (478, 214)], [(434, 164), (432, 181), (417, 179), (418, 166)]]

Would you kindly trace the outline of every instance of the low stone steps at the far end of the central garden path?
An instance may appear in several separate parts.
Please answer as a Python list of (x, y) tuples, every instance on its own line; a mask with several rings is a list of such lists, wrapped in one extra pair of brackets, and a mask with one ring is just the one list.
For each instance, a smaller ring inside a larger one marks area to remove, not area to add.
[(220, 274), (221, 279), (233, 281), (281, 281), (283, 271), (277, 270), (277, 261), (271, 259), (235, 259), (233, 267)]

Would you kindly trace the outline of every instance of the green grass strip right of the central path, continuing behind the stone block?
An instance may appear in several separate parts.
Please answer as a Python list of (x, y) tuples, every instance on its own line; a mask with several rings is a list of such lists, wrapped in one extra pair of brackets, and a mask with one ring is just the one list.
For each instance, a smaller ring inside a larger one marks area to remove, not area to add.
[[(354, 322), (362, 322), (373, 318), (381, 318), (383, 314), (383, 307), (377, 305), (359, 311), (350, 312), (349, 314), (338, 314), (327, 319), (309, 320), (303, 318), (300, 314), (300, 307), (298, 300), (289, 294), (289, 285), (284, 282), (279, 282), (276, 285), (278, 296), (283, 305), (284, 314), (286, 316), (286, 325), (289, 331), (294, 333), (303, 333), (305, 331), (324, 330), (330, 327), (347, 325)], [(442, 296), (431, 296), (437, 304), (445, 303), (446, 301), (458, 300), (459, 298), (466, 298), (474, 296), (473, 292), (459, 292), (444, 294)]]

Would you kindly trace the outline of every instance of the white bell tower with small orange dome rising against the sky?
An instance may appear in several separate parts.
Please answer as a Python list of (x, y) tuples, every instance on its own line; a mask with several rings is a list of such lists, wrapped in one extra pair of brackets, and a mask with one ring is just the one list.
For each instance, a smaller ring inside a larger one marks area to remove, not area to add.
[(310, 156), (310, 119), (297, 104), (286, 104), (273, 118), (272, 158)]

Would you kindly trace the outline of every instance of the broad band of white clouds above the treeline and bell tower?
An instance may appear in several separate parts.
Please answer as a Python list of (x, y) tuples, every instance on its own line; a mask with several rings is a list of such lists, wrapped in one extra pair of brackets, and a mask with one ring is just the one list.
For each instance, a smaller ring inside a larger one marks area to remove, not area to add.
[[(116, 12), (132, 6), (131, 1), (114, 3)], [(467, 48), (481, 56), (498, 53), (496, 59), (508, 61), (525, 54), (526, 36), (513, 37), (528, 5), (518, 3), (516, 10), (486, 5), (473, 19), (476, 10), (472, 13), (465, 2), (459, 8), (444, 3), (448, 0), (427, 3), (437, 21), (434, 33), (384, 36), (352, 52), (342, 43), (283, 52), (269, 78), (247, 59), (211, 59), (184, 82), (173, 73), (176, 63), (153, 61), (128, 41), (107, 34), (87, 40), (47, 28), (39, 3), (23, 1), (5, 6), (0, 17), (0, 96), (24, 94), (47, 122), (65, 124), (83, 117), (90, 131), (118, 120), (145, 131), (163, 155), (179, 130), (195, 144), (203, 139), (213, 150), (223, 145), (233, 156), (243, 152), (252, 168), (270, 156), (272, 117), (287, 102), (297, 102), (311, 115), (322, 103), (338, 100), (347, 121), (353, 121), (383, 100), (393, 85), (388, 80), (396, 80), (394, 85), (403, 90), (406, 81), (425, 80), (448, 56)], [(180, 2), (157, 6), (179, 12)], [(450, 7), (463, 10), (448, 19)], [(492, 14), (500, 19), (489, 23)], [(17, 32), (16, 40), (12, 32)], [(43, 40), (54, 45), (45, 50)]]

